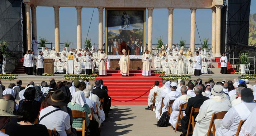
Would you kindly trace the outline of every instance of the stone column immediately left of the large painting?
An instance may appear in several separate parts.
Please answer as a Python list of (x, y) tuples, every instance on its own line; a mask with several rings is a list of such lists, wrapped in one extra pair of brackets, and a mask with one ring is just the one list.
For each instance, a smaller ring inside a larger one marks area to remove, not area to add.
[(104, 8), (98, 7), (98, 10), (99, 10), (99, 50), (100, 50), (100, 49), (103, 49), (103, 10)]

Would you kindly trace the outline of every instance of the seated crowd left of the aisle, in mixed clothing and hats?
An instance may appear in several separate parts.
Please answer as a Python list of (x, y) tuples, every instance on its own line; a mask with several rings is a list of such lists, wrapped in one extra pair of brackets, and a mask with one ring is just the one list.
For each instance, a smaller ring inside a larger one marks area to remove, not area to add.
[(100, 127), (111, 110), (102, 80), (92, 86), (86, 80), (56, 83), (51, 78), (49, 84), (31, 81), (26, 87), (17, 80), (8, 88), (0, 82), (0, 94), (1, 136), (49, 136), (49, 130), (57, 136), (100, 136)]

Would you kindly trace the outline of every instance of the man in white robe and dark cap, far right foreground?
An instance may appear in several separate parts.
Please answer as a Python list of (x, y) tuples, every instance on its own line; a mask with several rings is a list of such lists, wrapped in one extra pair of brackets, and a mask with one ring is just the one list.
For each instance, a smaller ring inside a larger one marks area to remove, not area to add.
[[(239, 88), (239, 87), (238, 87)], [(252, 110), (256, 108), (256, 103), (253, 102), (253, 91), (250, 88), (244, 88), (241, 91), (242, 103), (230, 108), (219, 127), (215, 136), (235, 136), (238, 124), (241, 120), (246, 120)]]

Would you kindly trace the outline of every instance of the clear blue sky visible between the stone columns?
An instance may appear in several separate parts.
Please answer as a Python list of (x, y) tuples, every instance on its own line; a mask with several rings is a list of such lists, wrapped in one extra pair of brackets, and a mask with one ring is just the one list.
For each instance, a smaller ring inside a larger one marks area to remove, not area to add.
[[(256, 13), (256, 1), (251, 1), (251, 13)], [(93, 14), (94, 10), (94, 14)], [(82, 8), (82, 43), (84, 43), (91, 26), (88, 39), (91, 43), (98, 43), (98, 9)], [(147, 42), (147, 10), (146, 10), (146, 42)], [(105, 31), (105, 9), (103, 13), (103, 31)], [(195, 29), (195, 44), (200, 44), (204, 38), (209, 38), (209, 44), (212, 39), (212, 9), (197, 9), (196, 24), (198, 31)], [(153, 30), (152, 43), (156, 44), (158, 37), (163, 37), (163, 42), (168, 41), (168, 10), (153, 10)], [(54, 10), (53, 7), (37, 7), (37, 39), (46, 38), (49, 42), (54, 43)], [(186, 40), (190, 44), (190, 9), (174, 9), (173, 17), (173, 43), (179, 43), (179, 40)], [(76, 43), (76, 8), (60, 8), (60, 43), (70, 41)], [(103, 41), (105, 41), (105, 36)], [(197, 47), (197, 45), (196, 45)]]

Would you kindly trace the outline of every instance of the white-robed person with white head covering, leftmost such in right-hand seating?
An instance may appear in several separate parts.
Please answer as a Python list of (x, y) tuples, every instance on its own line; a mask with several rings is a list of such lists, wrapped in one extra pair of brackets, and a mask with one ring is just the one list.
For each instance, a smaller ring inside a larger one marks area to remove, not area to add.
[(156, 113), (157, 120), (160, 119), (160, 109), (161, 109), (161, 105), (162, 105), (162, 98), (164, 98), (166, 96), (166, 94), (171, 92), (171, 82), (170, 81), (167, 81), (164, 86), (165, 86), (165, 89), (163, 89), (160, 92), (160, 96), (158, 96), (158, 103), (156, 105), (155, 113)]

